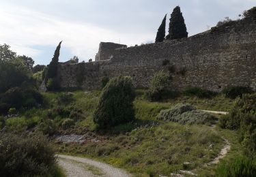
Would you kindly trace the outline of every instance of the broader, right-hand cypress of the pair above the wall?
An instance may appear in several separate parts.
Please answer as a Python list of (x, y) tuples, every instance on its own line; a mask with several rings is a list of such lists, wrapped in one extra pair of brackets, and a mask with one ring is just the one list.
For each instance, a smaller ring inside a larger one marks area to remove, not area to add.
[(180, 12), (180, 7), (177, 6), (173, 9), (171, 14), (170, 24), (169, 24), (169, 35), (166, 39), (182, 39), (188, 37), (188, 32), (186, 31), (186, 25), (182, 12)]

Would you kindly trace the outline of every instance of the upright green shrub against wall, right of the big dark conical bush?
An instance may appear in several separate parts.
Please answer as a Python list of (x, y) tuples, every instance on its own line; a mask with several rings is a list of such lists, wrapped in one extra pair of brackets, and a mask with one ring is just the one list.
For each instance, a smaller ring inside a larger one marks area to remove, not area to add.
[(163, 98), (163, 95), (167, 91), (168, 78), (169, 76), (164, 71), (159, 71), (155, 74), (150, 82), (150, 88), (148, 88), (146, 93), (150, 101), (159, 101)]

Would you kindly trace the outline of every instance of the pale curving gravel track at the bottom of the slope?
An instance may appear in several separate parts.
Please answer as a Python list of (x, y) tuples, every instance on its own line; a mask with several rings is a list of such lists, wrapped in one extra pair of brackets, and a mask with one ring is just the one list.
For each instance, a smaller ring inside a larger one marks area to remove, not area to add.
[(112, 167), (105, 163), (91, 159), (73, 157), (68, 155), (58, 155), (58, 163), (66, 171), (68, 177), (130, 177), (132, 175)]

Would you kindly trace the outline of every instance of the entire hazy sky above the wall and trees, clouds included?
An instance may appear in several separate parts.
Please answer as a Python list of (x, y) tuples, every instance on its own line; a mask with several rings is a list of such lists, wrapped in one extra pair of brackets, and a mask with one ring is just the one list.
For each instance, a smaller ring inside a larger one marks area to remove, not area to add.
[(0, 44), (48, 64), (63, 40), (60, 61), (94, 59), (100, 42), (128, 46), (153, 42), (165, 14), (180, 5), (188, 35), (226, 16), (256, 6), (256, 0), (0, 0)]

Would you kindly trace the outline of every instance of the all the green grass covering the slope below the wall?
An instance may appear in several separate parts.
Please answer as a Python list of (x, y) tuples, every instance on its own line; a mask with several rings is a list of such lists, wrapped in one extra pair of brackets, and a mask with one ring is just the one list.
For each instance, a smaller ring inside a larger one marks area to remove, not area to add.
[[(119, 125), (111, 129), (111, 133), (95, 132), (92, 115), (98, 102), (100, 91), (75, 91), (74, 101), (69, 105), (81, 108), (84, 119), (79, 120), (72, 129), (60, 131), (61, 133), (87, 133), (101, 142), (87, 142), (85, 144), (57, 144), (61, 153), (81, 155), (105, 161), (117, 167), (137, 174), (137, 176), (169, 175), (178, 170), (199, 169), (203, 176), (214, 174), (214, 166), (203, 168), (202, 164), (218, 155), (223, 140), (221, 135), (233, 138), (232, 132), (217, 131), (205, 125), (179, 125), (177, 123), (164, 123), (156, 120), (162, 109), (170, 108), (176, 103), (191, 103), (203, 110), (229, 111), (233, 100), (218, 95), (212, 99), (199, 99), (197, 97), (180, 96), (165, 102), (149, 102), (143, 97), (144, 91), (137, 91), (134, 108), (137, 121), (126, 125)], [(45, 93), (45, 107), (30, 110), (21, 114), (19, 119), (23, 125), (35, 125), (40, 118), (46, 116), (48, 109), (56, 107), (55, 99), (59, 93)], [(63, 105), (64, 106), (64, 105)], [(30, 118), (27, 118), (30, 117)], [(33, 120), (33, 121), (32, 121)], [(10, 120), (10, 127), (16, 129), (16, 120)], [(20, 125), (20, 123), (18, 123)], [(88, 133), (91, 132), (91, 133)], [(233, 138), (234, 140), (236, 138)], [(232, 139), (232, 140), (233, 140)], [(238, 142), (233, 142), (236, 146)], [(210, 145), (212, 150), (210, 149)], [(231, 149), (233, 150), (233, 149)], [(231, 153), (235, 155), (239, 149)], [(192, 162), (188, 167), (184, 162)], [(207, 175), (206, 175), (207, 174)]]

